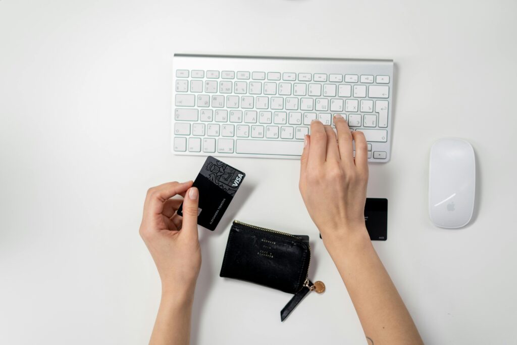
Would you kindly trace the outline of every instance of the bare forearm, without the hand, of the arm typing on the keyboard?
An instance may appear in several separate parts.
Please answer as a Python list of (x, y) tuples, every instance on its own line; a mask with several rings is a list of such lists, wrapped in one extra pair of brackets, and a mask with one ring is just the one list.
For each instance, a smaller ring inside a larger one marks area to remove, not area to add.
[(329, 240), (325, 245), (345, 283), (370, 343), (422, 343), (366, 229), (357, 229), (346, 237)]

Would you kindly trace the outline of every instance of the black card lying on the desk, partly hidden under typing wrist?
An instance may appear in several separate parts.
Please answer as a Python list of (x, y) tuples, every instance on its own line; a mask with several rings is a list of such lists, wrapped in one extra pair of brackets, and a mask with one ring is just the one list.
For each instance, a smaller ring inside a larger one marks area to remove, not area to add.
[[(388, 199), (366, 198), (364, 222), (371, 241), (386, 241), (388, 238)], [(321, 234), (320, 238), (322, 238)]]

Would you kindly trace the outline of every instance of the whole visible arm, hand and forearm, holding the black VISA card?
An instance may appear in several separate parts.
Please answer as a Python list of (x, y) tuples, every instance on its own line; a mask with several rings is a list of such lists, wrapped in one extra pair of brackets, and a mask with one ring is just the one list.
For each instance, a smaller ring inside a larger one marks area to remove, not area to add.
[[(195, 283), (201, 268), (197, 235), (199, 191), (192, 181), (149, 189), (140, 235), (155, 261), (162, 282), (158, 316), (149, 344), (188, 345)], [(171, 199), (179, 194), (181, 199)], [(181, 202), (183, 217), (176, 214)]]

